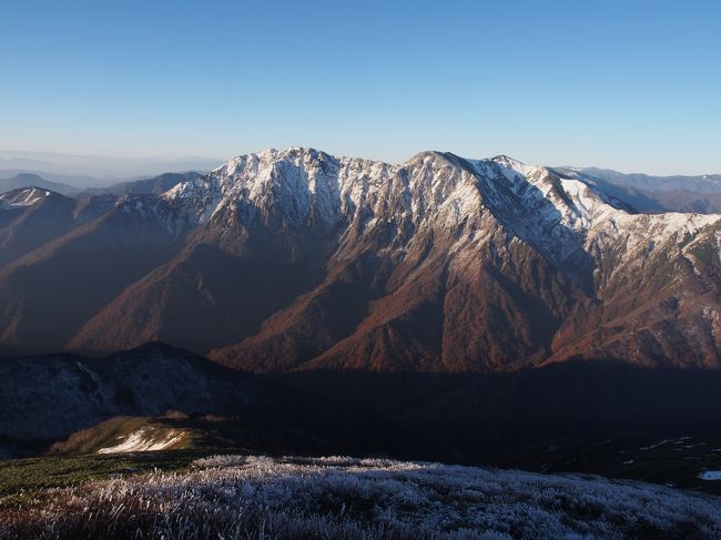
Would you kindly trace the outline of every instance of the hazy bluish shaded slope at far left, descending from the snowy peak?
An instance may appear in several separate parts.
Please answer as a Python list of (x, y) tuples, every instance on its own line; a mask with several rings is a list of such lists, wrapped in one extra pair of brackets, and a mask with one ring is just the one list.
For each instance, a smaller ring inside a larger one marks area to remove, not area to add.
[(162, 201), (101, 206), (94, 220), (0, 268), (6, 354), (62, 350), (103, 305), (181, 247), (181, 232), (162, 221)]

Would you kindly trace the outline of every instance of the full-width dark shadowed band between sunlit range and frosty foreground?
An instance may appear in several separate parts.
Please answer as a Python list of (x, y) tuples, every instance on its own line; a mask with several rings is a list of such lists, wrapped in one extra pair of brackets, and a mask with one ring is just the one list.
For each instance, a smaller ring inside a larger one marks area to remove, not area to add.
[[(206, 434), (211, 442), (199, 448), (209, 452), (575, 470), (695, 488), (699, 469), (717, 467), (702, 460), (721, 448), (721, 371), (612, 360), (514, 373), (254, 375), (148, 344), (105, 358), (0, 358), (0, 458), (143, 417)], [(681, 437), (694, 441), (659, 446)], [(632, 470), (623, 465), (633, 460)]]

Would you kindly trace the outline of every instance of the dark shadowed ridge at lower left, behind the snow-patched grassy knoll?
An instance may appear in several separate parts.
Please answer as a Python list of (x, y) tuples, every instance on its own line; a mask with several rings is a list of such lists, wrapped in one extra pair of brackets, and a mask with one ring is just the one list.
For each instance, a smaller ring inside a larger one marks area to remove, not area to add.
[[(189, 431), (204, 431), (216, 434), (216, 445), (225, 439), (225, 445), (277, 454), (419, 456), (416, 448), (436, 448), (382, 415), (230, 370), (162, 344), (104, 358), (0, 358), (0, 444), (16, 448), (48, 448), (52, 441), (119, 416), (164, 419), (110, 420), (54, 450), (82, 451), (83, 444), (92, 439), (125, 439), (153, 422), (182, 431), (184, 437), (192, 435)], [(170, 417), (169, 410), (174, 411)], [(84, 449), (98, 450), (92, 444)]]

